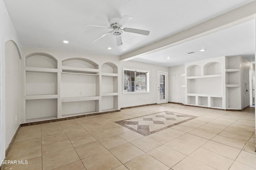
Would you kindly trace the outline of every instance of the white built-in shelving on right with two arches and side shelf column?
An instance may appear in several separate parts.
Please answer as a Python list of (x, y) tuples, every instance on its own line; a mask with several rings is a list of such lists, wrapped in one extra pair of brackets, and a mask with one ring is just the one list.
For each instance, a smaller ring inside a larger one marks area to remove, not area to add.
[(220, 109), (241, 108), (240, 56), (185, 64), (185, 102)]

